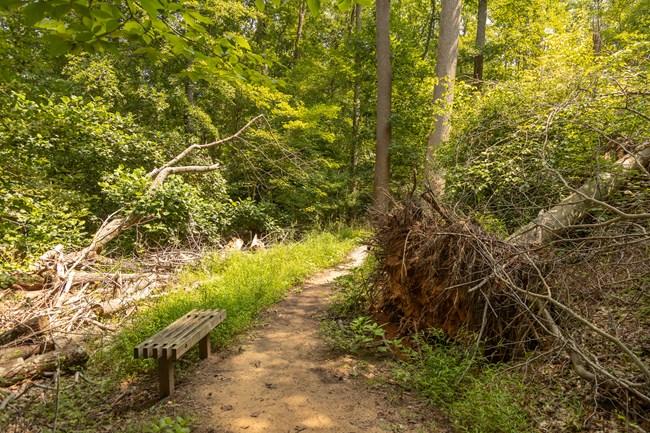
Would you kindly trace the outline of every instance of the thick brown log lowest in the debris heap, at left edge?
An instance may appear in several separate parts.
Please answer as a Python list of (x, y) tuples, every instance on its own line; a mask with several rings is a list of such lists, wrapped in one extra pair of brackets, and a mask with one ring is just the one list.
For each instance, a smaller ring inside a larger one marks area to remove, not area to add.
[(22, 380), (42, 376), (46, 372), (83, 365), (88, 360), (88, 354), (73, 340), (63, 340), (62, 345), (53, 352), (35, 355), (28, 359), (17, 358), (9, 363), (0, 364), (0, 383), (9, 386)]

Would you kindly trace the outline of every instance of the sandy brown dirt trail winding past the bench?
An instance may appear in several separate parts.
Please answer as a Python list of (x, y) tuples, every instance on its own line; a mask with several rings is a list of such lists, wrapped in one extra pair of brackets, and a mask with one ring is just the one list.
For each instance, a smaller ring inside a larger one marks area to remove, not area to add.
[(237, 353), (213, 354), (179, 384), (176, 402), (199, 414), (197, 432), (442, 431), (395, 387), (371, 386), (372, 364), (332, 353), (319, 338), (332, 281), (363, 257), (357, 249), (347, 265), (310, 279)]

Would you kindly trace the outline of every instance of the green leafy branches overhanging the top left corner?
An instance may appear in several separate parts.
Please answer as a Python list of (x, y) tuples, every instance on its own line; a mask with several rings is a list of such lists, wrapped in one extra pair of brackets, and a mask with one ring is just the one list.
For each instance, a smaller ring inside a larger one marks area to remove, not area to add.
[[(192, 1), (168, 0), (6, 0), (3, 6), (20, 11), (24, 24), (44, 35), (51, 56), (80, 50), (116, 52), (128, 41), (135, 45), (132, 54), (146, 55), (153, 61), (164, 56), (191, 59), (192, 66), (184, 74), (195, 79), (271, 83), (249, 66), (268, 64), (268, 60), (253, 53), (245, 37), (226, 31), (215, 35), (219, 17), (212, 11), (214, 6), (228, 2), (210, 3), (199, 7)], [(161, 50), (160, 45), (166, 49)]]

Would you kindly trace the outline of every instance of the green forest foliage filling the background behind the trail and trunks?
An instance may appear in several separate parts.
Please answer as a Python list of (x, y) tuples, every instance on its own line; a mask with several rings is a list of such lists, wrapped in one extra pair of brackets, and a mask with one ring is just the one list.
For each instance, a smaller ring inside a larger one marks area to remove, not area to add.
[[(390, 5), (396, 196), (423, 172), (439, 6)], [(453, 128), (435, 164), (450, 201), (511, 233), (647, 142), (647, 4), (497, 1), (483, 47), (477, 7), (462, 9)], [(0, 19), (3, 266), (83, 245), (142, 205), (144, 173), (260, 113), (236, 142), (193, 156), (221, 168), (173, 176), (147, 203), (156, 218), (119, 248), (356, 218), (370, 204), (370, 3), (14, 0)]]

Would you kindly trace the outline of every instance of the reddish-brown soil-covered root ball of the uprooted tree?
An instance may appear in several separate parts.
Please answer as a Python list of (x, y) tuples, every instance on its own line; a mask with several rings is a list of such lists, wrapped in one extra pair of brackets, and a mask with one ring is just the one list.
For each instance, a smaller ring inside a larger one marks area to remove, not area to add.
[(532, 290), (538, 279), (530, 255), (521, 258), (516, 247), (429, 201), (398, 204), (377, 219), (377, 307), (403, 331), (479, 333), (502, 355), (537, 344), (530, 302), (506, 283)]

